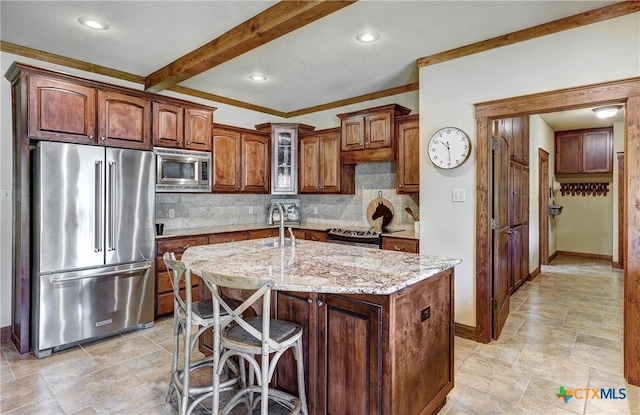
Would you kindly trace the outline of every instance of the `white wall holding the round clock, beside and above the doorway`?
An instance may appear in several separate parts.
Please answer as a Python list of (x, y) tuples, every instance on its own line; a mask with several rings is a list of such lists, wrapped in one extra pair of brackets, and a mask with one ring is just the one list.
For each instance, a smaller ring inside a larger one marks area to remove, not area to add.
[[(461, 258), (455, 321), (475, 326), (475, 154), (441, 171), (425, 154), (429, 137), (456, 126), (475, 143), (474, 104), (640, 76), (639, 13), (420, 68), (422, 253)], [(464, 189), (466, 203), (451, 202)]]

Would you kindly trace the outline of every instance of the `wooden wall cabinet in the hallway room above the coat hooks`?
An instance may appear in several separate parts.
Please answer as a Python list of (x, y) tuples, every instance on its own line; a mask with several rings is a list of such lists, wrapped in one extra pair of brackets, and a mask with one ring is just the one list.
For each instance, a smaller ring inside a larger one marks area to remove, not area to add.
[(613, 130), (597, 128), (556, 133), (556, 174), (612, 173)]

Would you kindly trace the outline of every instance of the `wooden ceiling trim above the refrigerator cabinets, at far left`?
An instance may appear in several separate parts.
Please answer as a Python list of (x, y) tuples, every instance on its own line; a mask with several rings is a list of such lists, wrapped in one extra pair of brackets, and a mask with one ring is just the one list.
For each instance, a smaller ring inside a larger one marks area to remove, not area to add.
[(93, 63), (79, 61), (77, 59), (67, 58), (65, 56), (53, 53), (43, 52), (41, 50), (31, 49), (14, 43), (4, 42), (0, 40), (0, 51), (20, 55), (31, 59), (37, 59), (43, 62), (54, 63), (56, 65), (66, 66), (67, 68), (80, 69), (82, 71), (92, 72), (98, 75), (110, 76), (111, 78), (122, 79), (124, 81), (144, 84), (144, 77), (134, 75), (129, 72), (118, 71), (116, 69), (107, 68), (106, 66), (95, 65)]

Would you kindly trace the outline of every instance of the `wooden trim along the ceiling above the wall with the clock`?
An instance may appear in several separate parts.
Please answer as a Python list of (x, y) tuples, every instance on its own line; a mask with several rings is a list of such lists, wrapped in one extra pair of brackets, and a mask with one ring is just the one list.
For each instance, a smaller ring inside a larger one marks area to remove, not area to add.
[(552, 33), (562, 32), (568, 29), (585, 26), (591, 23), (601, 22), (603, 20), (612, 19), (614, 17), (624, 16), (630, 13), (640, 11), (640, 1), (623, 1), (612, 4), (610, 6), (601, 7), (599, 9), (590, 10), (588, 12), (576, 14), (564, 19), (555, 20), (553, 22), (544, 23), (528, 29), (519, 30), (506, 35), (494, 37), (492, 39), (483, 40), (481, 42), (472, 43), (456, 49), (445, 52), (436, 53), (435, 55), (425, 56), (418, 59), (418, 68), (423, 66), (434, 65), (452, 59), (462, 58), (464, 56), (473, 55), (475, 53), (485, 52), (490, 49), (502, 46), (512, 45), (514, 43), (523, 42), (525, 40), (535, 39), (537, 37), (550, 35)]

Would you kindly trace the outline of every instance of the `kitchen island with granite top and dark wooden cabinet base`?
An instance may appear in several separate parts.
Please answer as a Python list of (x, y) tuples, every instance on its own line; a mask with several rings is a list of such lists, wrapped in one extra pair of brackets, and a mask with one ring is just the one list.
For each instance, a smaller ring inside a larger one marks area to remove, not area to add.
[[(275, 280), (275, 316), (304, 328), (310, 414), (432, 414), (444, 405), (453, 388), (453, 267), (460, 260), (272, 242), (190, 247), (182, 259), (196, 275)], [(275, 383), (297, 393), (293, 356), (283, 356)]]

